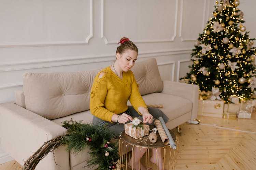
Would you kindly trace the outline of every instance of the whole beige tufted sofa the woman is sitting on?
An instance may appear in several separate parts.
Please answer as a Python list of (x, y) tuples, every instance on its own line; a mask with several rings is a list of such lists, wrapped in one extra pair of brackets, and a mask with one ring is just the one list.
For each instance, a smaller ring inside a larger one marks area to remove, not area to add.
[[(0, 104), (0, 137), (3, 150), (21, 165), (45, 141), (66, 133), (61, 125), (71, 118), (91, 123), (90, 88), (100, 69), (69, 73), (25, 73), (23, 91), (15, 103)], [(162, 81), (155, 58), (132, 68), (146, 104), (162, 104), (170, 118), (169, 129), (197, 118), (197, 85)], [(77, 155), (62, 146), (40, 161), (38, 170), (89, 169), (88, 151)], [(55, 159), (54, 159), (55, 158)], [(56, 162), (56, 163), (55, 163)], [(93, 167), (95, 169), (96, 167)]]

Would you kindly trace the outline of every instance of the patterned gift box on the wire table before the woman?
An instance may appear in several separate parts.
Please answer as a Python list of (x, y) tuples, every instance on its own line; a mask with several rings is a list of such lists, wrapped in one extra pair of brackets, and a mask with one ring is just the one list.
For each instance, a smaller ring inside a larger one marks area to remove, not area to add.
[(132, 126), (132, 123), (125, 124), (125, 134), (133, 137), (134, 139), (138, 139), (149, 134), (149, 125), (142, 124), (143, 129), (140, 127), (133, 128)]

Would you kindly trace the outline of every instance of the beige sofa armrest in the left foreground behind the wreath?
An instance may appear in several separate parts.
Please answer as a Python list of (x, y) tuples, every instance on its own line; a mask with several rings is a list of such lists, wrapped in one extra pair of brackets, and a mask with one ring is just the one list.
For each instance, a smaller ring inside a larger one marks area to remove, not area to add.
[[(14, 103), (0, 104), (0, 120), (1, 146), (21, 165), (44, 142), (67, 132), (62, 126)], [(39, 162), (37, 169), (69, 170), (69, 153), (65, 148), (55, 150), (55, 160), (53, 153), (49, 153)]]

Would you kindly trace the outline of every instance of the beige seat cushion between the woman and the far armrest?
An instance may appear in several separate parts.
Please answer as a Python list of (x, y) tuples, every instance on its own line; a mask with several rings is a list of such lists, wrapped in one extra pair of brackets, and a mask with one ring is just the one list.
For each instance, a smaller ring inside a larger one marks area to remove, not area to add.
[(162, 104), (160, 110), (167, 115), (170, 120), (180, 117), (192, 111), (192, 102), (179, 96), (163, 93), (152, 93), (142, 96), (146, 104)]

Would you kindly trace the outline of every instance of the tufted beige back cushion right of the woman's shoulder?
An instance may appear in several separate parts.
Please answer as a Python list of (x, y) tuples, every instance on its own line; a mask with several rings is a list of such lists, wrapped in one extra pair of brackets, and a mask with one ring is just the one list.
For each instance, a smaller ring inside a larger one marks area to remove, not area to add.
[(131, 70), (139, 84), (141, 95), (162, 91), (163, 82), (155, 58), (137, 62)]

